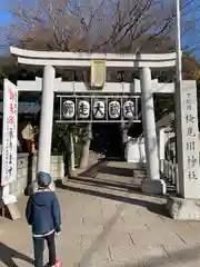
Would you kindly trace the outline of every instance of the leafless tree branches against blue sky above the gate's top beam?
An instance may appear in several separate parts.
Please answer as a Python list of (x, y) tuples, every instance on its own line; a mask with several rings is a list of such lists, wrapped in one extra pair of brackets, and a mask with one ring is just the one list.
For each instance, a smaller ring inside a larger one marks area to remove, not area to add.
[[(182, 37), (190, 50), (200, 44), (199, 9), (193, 0), (182, 0)], [(174, 0), (16, 0), (11, 11), (14, 20), (9, 43), (20, 42), (26, 48), (114, 52), (174, 49)]]

